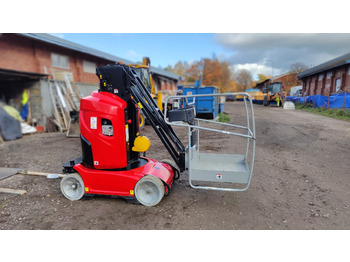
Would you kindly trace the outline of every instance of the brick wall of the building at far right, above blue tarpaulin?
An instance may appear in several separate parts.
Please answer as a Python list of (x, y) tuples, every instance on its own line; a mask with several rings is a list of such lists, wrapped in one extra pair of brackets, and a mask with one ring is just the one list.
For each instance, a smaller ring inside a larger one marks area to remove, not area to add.
[(343, 65), (335, 69), (325, 70), (302, 79), (303, 92), (306, 95), (328, 96), (336, 93), (337, 79), (340, 79), (340, 92), (350, 93), (350, 66)]

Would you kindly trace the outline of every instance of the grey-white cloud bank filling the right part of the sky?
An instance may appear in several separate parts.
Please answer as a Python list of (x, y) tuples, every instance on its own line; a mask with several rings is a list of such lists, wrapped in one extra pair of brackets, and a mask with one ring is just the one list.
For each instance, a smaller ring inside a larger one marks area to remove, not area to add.
[(350, 52), (350, 34), (216, 34), (215, 41), (229, 52), (235, 68), (271, 74), (273, 64), (274, 75), (296, 62), (312, 67)]

